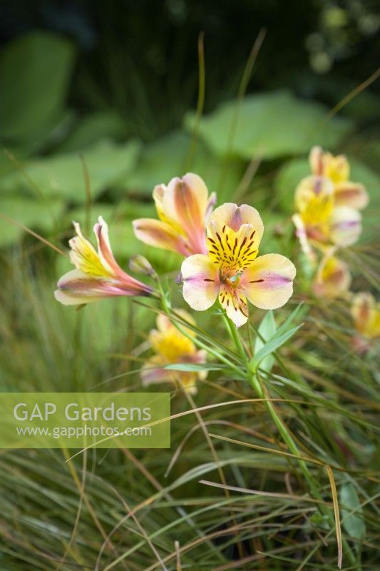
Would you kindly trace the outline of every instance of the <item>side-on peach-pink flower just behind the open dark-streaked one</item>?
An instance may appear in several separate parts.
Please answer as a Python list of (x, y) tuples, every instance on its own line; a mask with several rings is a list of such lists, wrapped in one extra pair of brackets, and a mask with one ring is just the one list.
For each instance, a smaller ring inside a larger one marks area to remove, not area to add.
[(216, 195), (208, 196), (202, 178), (193, 173), (185, 174), (183, 178), (172, 178), (168, 186), (155, 186), (153, 198), (160, 220), (134, 220), (136, 238), (149, 246), (178, 252), (181, 256), (206, 253), (205, 225)]

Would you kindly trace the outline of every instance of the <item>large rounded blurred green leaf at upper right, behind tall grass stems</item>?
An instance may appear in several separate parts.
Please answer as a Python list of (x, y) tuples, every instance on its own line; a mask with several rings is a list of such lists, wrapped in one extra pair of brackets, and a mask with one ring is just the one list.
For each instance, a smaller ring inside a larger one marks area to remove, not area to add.
[[(200, 123), (201, 136), (219, 156), (230, 151), (247, 160), (255, 156), (273, 159), (305, 153), (314, 144), (334, 148), (352, 128), (348, 119), (324, 122), (326, 107), (297, 99), (285, 90), (245, 97), (234, 126), (235, 110), (236, 101), (228, 101)], [(185, 118), (185, 126), (193, 128), (194, 121), (192, 113)], [(235, 136), (228, 149), (232, 128)]]

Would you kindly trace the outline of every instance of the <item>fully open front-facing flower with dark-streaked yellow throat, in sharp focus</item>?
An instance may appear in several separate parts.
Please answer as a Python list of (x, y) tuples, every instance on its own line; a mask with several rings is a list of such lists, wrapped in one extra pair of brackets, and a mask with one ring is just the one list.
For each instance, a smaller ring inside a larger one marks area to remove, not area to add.
[(248, 318), (247, 299), (262, 309), (279, 308), (293, 291), (296, 268), (279, 254), (257, 258), (264, 226), (252, 206), (225, 203), (207, 225), (207, 256), (190, 256), (182, 264), (183, 297), (202, 311), (219, 297), (237, 327)]

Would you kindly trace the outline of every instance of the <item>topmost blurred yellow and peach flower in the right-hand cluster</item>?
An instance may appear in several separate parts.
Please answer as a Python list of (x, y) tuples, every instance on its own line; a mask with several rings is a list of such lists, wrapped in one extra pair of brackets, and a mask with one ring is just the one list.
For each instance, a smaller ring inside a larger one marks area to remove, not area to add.
[(369, 197), (364, 185), (349, 180), (350, 166), (344, 155), (334, 156), (315, 146), (310, 151), (309, 163), (314, 175), (324, 176), (332, 181), (337, 206), (361, 209), (368, 204)]

